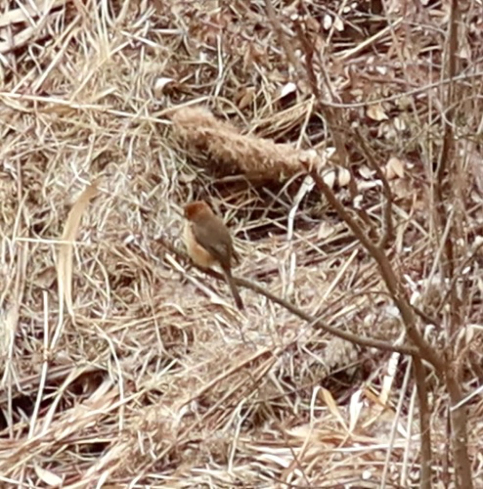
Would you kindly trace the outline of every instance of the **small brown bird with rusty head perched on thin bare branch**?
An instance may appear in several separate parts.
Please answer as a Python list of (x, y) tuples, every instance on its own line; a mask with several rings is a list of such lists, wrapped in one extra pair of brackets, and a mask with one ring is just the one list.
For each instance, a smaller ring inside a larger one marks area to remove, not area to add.
[(184, 217), (183, 239), (191, 259), (198, 267), (220, 265), (235, 303), (242, 310), (243, 302), (231, 276), (231, 259), (235, 257), (235, 251), (227, 227), (202, 200), (186, 204)]

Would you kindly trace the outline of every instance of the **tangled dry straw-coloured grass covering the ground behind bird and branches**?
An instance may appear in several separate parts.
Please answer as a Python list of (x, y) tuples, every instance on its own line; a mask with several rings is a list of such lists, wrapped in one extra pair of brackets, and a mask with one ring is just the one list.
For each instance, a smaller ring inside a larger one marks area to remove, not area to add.
[[(275, 6), (289, 34), (293, 16), (305, 15), (341, 126), (358, 124), (395, 168), (392, 258), (427, 305), (439, 292), (437, 280), (427, 280), (435, 249), (424, 190), (439, 144), (448, 6), (425, 3), (387, 2), (378, 12), (366, 1)], [(465, 250), (478, 244), (482, 224), (481, 8), (474, 2), (464, 14), (459, 53), (467, 114), (460, 133), (476, 134), (458, 148), (457, 178), (473, 199), (463, 209)], [(311, 196), (290, 217), (300, 178), (277, 173), (277, 186), (250, 184), (226, 168), (214, 175), (215, 166), (233, 163), (231, 154), (209, 145), (194, 152), (173, 130), (175, 108), (201, 106), (216, 114), (215, 127), (229, 120), (254, 141), (274, 138), (293, 154), (328, 149), (324, 121), (307, 87), (293, 83), (263, 2), (10, 2), (0, 10), (0, 38), (2, 483), (417, 486), (407, 359), (313, 331), (249, 290), (240, 315), (223, 283), (187, 271), (156, 241), (179, 244), (180, 206), (209, 198), (237, 236), (237, 275), (331, 326), (399, 334), (373, 262), (333, 212)], [(385, 101), (361, 103), (378, 99)], [(354, 171), (373, 215), (380, 204), (371, 172)], [(59, 240), (94, 181), (98, 193), (73, 248), (70, 315), (60, 308)], [(344, 187), (344, 178), (338, 183)], [(470, 268), (466, 279), (476, 285), (464, 314), (476, 341), (481, 270)], [(468, 392), (476, 372), (467, 370)], [(443, 487), (445, 404), (441, 387), (431, 387), (434, 473)], [(483, 485), (475, 399), (470, 454)]]

